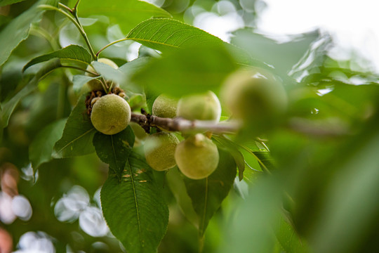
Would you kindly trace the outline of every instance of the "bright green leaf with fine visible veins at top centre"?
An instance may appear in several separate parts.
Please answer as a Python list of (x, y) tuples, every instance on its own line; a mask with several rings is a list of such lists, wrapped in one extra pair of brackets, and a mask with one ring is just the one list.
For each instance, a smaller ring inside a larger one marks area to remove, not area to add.
[(152, 18), (141, 22), (126, 36), (161, 52), (201, 44), (223, 44), (208, 32), (169, 18)]

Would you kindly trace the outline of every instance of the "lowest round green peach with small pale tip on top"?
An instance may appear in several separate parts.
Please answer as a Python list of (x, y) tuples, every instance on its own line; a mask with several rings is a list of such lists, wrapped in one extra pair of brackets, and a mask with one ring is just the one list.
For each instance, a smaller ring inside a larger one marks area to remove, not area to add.
[(178, 144), (175, 161), (189, 179), (205, 179), (218, 167), (218, 149), (204, 134), (190, 136)]

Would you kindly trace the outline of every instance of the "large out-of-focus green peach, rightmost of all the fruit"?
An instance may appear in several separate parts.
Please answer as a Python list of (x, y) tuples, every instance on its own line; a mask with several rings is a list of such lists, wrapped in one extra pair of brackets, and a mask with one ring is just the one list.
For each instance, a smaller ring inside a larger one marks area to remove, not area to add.
[(232, 117), (260, 130), (277, 122), (288, 103), (283, 84), (270, 72), (258, 68), (240, 70), (228, 77), (221, 98)]

